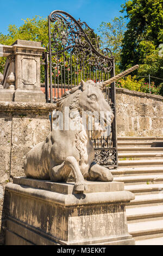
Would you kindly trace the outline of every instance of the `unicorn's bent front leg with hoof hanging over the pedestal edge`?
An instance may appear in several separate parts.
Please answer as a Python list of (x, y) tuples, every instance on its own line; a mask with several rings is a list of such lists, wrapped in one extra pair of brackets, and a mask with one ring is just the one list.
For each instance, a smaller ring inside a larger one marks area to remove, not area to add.
[(80, 172), (78, 162), (73, 156), (68, 156), (59, 166), (54, 166), (51, 172), (49, 172), (49, 175), (52, 181), (66, 182), (71, 170), (75, 179), (74, 191), (84, 191), (85, 180)]

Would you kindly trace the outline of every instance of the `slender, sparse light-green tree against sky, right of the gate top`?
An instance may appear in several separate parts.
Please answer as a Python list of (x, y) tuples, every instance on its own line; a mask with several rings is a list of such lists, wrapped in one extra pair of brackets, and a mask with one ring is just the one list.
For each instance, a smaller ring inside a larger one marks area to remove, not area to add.
[(108, 47), (113, 53), (116, 61), (116, 69), (120, 63), (122, 40), (126, 29), (126, 22), (122, 16), (115, 17), (111, 22), (102, 22), (98, 28), (101, 38), (101, 47)]

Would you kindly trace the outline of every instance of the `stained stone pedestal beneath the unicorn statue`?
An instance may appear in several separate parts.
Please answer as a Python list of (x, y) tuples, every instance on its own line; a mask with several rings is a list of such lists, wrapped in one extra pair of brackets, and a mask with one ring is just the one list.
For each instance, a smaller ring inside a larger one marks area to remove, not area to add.
[(6, 245), (134, 245), (125, 205), (134, 194), (122, 182), (73, 183), (14, 178), (8, 184)]

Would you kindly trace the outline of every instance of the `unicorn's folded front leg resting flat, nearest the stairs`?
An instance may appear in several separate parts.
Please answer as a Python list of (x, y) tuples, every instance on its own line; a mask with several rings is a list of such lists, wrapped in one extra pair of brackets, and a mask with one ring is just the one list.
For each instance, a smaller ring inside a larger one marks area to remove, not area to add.
[(109, 169), (99, 166), (99, 164), (93, 162), (91, 164), (87, 180), (112, 181), (113, 176)]

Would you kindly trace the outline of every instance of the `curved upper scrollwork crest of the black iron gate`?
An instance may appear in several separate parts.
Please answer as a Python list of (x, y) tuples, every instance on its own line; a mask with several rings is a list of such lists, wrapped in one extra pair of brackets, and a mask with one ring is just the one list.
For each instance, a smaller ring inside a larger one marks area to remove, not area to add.
[[(53, 11), (49, 19), (54, 23), (52, 31), (52, 55), (71, 51), (78, 59), (84, 59), (91, 68), (109, 72), (112, 68), (112, 53), (109, 48), (99, 48), (99, 38), (86, 22), (75, 20), (65, 11)], [(108, 57), (110, 55), (110, 57)], [(85, 63), (86, 65), (86, 63)]]

